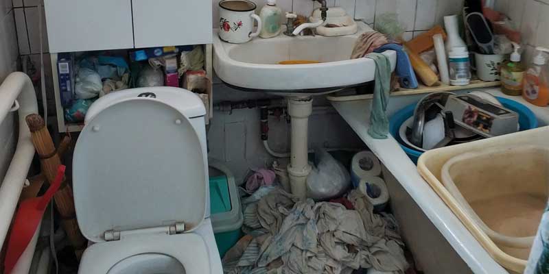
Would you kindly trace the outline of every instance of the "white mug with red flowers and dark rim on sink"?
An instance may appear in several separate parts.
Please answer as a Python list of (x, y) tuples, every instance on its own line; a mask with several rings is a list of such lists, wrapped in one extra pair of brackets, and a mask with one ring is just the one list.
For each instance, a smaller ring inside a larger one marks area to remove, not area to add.
[[(261, 32), (261, 18), (255, 14), (257, 5), (248, 0), (224, 0), (219, 3), (219, 37), (225, 42), (245, 43)], [(257, 21), (257, 32), (253, 32)]]

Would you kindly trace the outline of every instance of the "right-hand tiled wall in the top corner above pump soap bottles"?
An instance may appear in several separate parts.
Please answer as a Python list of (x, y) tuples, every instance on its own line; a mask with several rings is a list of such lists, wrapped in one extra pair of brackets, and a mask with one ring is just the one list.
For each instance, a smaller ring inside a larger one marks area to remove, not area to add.
[(549, 0), (496, 0), (495, 9), (509, 16), (522, 33), (524, 61), (530, 62), (535, 47), (549, 47)]

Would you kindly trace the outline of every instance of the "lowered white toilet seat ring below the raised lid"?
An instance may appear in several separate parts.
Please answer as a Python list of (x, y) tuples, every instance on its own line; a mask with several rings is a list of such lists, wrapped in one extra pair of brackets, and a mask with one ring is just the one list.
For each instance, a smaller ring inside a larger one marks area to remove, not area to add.
[(156, 234), (132, 235), (113, 242), (100, 242), (88, 247), (80, 262), (79, 274), (110, 274), (116, 264), (140, 254), (170, 256), (185, 268), (185, 274), (210, 273), (206, 243), (200, 235)]

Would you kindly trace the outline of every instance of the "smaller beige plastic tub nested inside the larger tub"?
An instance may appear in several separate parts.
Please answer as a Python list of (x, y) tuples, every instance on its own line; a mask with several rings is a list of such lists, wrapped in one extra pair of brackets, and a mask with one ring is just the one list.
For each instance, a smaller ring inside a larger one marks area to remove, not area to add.
[(528, 259), (548, 199), (549, 148), (524, 145), (463, 153), (442, 182), (496, 245)]

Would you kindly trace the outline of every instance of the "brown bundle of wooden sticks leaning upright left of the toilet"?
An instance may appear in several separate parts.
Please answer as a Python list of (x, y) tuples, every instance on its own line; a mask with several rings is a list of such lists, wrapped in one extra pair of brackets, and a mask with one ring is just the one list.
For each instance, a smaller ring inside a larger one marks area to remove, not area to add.
[[(40, 115), (30, 114), (25, 120), (27, 121), (27, 125), (31, 132), (32, 143), (40, 157), (42, 173), (46, 177), (47, 182), (51, 184), (56, 177), (58, 166), (61, 164), (58, 151), (56, 147), (54, 147), (54, 141), (51, 140), (44, 119), (42, 119)], [(54, 202), (61, 215), (62, 227), (69, 237), (69, 242), (71, 242), (71, 245), (75, 249), (76, 258), (80, 260), (88, 241), (82, 236), (80, 227), (78, 227), (74, 209), (73, 190), (71, 186), (67, 184), (65, 178), (54, 196)]]

